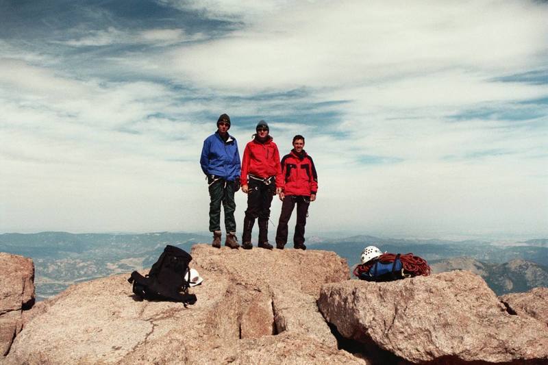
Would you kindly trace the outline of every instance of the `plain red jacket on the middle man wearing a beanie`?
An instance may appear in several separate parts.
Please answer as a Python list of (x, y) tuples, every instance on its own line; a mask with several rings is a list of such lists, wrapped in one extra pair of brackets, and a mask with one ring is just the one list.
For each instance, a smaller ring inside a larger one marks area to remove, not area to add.
[(247, 142), (242, 158), (242, 174), (240, 175), (242, 184), (247, 184), (246, 179), (249, 174), (262, 178), (275, 176), (276, 187), (283, 186), (278, 147), (271, 136), (264, 143), (257, 139)]

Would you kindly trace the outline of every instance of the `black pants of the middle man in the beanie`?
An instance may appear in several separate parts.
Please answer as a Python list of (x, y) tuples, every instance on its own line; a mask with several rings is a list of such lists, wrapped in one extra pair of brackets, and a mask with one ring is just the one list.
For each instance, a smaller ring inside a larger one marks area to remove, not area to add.
[(256, 218), (259, 218), (259, 244), (269, 242), (270, 205), (276, 191), (274, 179), (269, 185), (256, 179), (249, 179), (247, 186), (249, 190), (242, 242), (251, 242), (251, 231)]

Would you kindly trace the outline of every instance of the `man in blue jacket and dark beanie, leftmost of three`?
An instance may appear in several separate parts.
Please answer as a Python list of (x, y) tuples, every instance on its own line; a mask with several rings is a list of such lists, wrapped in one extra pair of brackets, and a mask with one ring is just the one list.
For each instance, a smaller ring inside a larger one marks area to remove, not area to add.
[(210, 191), (210, 231), (213, 232), (212, 246), (221, 248), (221, 202), (225, 210), (227, 236), (225, 246), (238, 249), (234, 211), (234, 192), (240, 189), (240, 153), (234, 136), (228, 134), (230, 117), (221, 114), (217, 131), (203, 141), (200, 165), (208, 177)]

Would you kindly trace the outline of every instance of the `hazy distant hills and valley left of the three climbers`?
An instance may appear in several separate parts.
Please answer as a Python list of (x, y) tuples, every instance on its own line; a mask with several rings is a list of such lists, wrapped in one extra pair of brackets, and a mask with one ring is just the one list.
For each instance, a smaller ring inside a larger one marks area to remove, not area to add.
[(148, 234), (1, 234), (0, 251), (31, 257), (37, 300), (79, 281), (150, 267), (166, 244), (190, 251), (207, 236), (187, 233)]

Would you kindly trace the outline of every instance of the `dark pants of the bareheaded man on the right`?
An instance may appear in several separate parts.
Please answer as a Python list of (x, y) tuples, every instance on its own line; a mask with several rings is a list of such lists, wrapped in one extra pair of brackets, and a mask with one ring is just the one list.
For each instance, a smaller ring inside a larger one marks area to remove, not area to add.
[(278, 229), (276, 231), (277, 245), (285, 245), (287, 243), (287, 223), (289, 222), (289, 218), (291, 218), (295, 204), (297, 204), (297, 224), (295, 225), (293, 244), (295, 247), (304, 244), (304, 226), (306, 226), (306, 215), (308, 214), (310, 197), (286, 195), (284, 202), (282, 203), (282, 213), (279, 214)]

